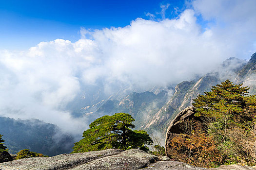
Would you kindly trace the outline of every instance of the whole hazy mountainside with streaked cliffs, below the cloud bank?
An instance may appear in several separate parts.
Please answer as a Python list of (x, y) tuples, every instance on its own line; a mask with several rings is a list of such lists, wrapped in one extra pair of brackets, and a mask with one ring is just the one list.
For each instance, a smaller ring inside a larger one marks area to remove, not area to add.
[(98, 105), (92, 115), (125, 112), (135, 119), (137, 129), (153, 134), (158, 131), (164, 136), (172, 119), (184, 108), (192, 105), (193, 99), (211, 87), (230, 79), (234, 83), (244, 83), (256, 94), (256, 53), (249, 62), (229, 58), (216, 72), (207, 73), (192, 81), (184, 81), (168, 88), (154, 87), (143, 93), (131, 93), (125, 97), (111, 97)]

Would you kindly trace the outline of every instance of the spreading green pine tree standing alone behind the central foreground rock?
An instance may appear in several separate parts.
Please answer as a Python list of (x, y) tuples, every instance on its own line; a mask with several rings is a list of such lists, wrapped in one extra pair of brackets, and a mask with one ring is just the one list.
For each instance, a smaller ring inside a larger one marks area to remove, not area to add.
[(83, 139), (75, 143), (73, 153), (99, 151), (116, 148), (121, 150), (141, 149), (148, 151), (146, 145), (153, 141), (146, 131), (132, 130), (135, 119), (126, 113), (116, 113), (113, 116), (103, 116), (89, 125), (83, 132)]

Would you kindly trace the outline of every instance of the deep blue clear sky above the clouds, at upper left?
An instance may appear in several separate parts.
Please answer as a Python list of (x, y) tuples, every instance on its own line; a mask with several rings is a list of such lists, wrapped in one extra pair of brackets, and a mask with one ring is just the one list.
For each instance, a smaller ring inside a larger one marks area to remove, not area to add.
[(23, 50), (57, 38), (76, 41), (81, 27), (124, 27), (147, 13), (161, 17), (161, 4), (170, 4), (166, 17), (184, 0), (0, 0), (0, 49)]

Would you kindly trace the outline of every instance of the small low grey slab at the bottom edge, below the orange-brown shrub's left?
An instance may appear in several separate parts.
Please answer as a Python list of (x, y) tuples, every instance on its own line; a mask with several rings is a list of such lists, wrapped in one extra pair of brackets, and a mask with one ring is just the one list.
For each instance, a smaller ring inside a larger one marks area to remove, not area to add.
[(143, 170), (206, 170), (205, 168), (198, 168), (183, 162), (177, 161), (160, 161), (151, 164)]

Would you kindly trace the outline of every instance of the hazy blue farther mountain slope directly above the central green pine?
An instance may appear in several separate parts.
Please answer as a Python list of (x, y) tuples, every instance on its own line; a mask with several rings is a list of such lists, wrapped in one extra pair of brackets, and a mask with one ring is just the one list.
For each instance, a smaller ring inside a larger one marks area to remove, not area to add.
[(133, 92), (120, 101), (108, 100), (102, 104), (96, 112), (96, 115), (113, 115), (114, 113), (124, 112), (129, 113), (136, 119), (135, 125), (138, 128), (143, 128), (145, 122), (151, 119), (155, 113), (168, 100), (168, 92), (170, 89), (153, 92)]

